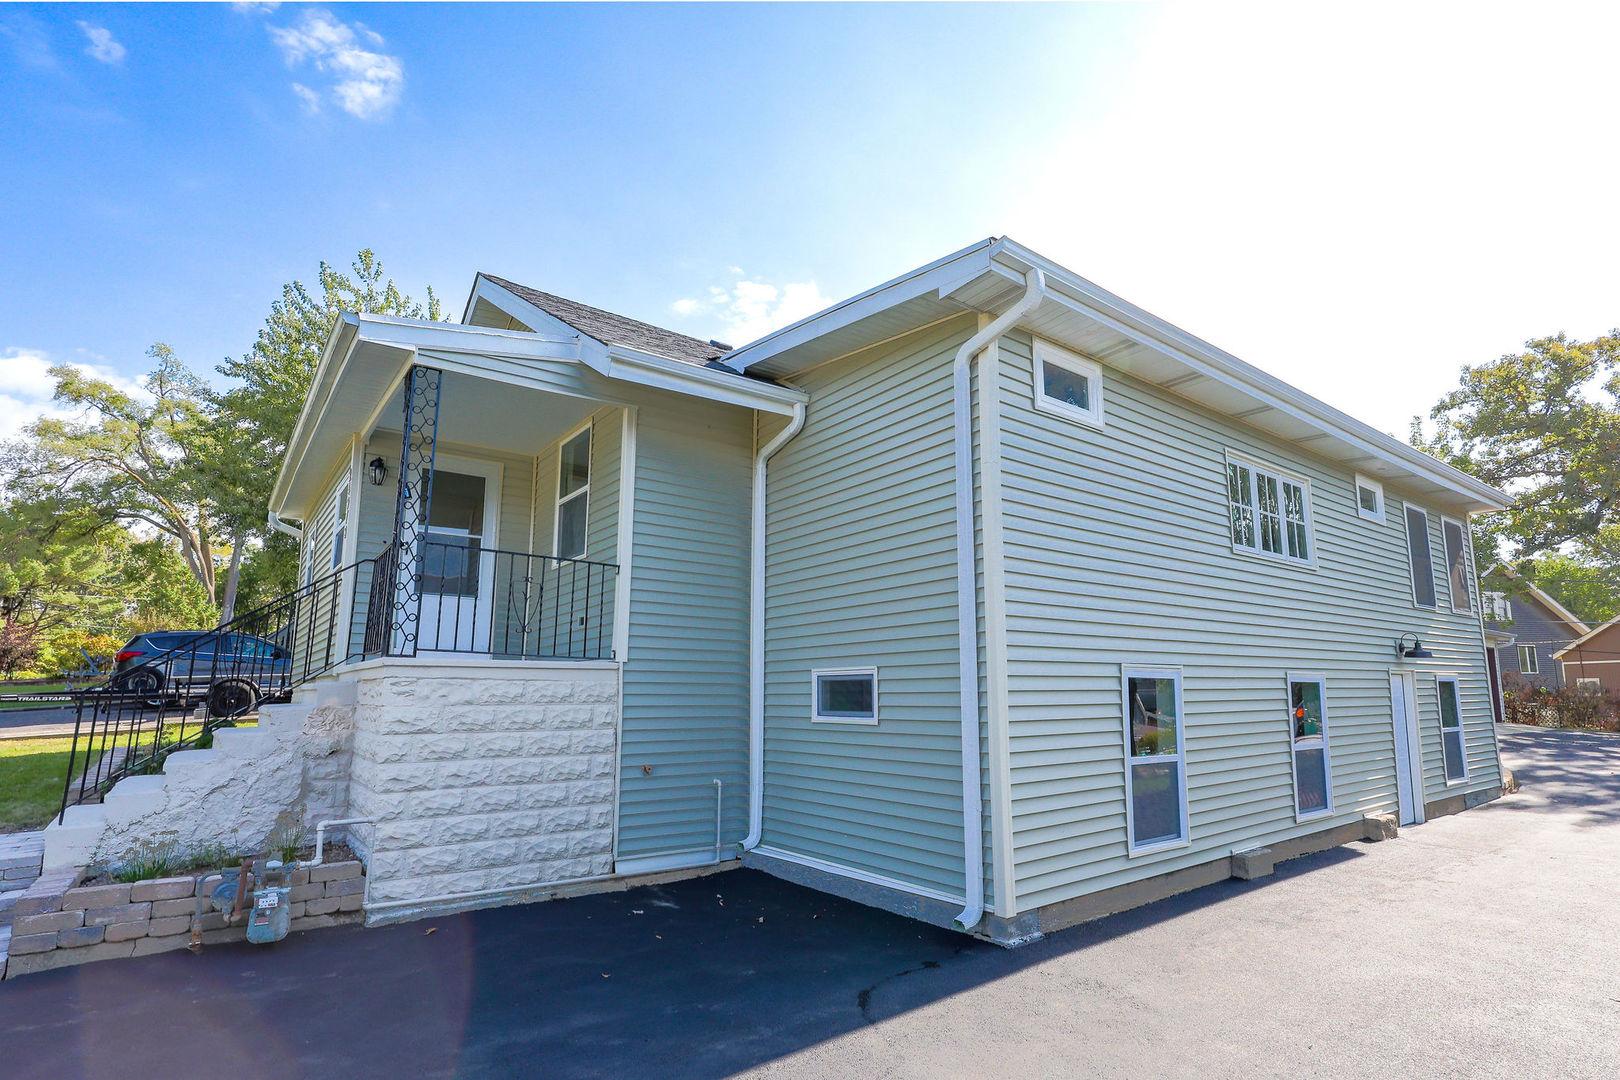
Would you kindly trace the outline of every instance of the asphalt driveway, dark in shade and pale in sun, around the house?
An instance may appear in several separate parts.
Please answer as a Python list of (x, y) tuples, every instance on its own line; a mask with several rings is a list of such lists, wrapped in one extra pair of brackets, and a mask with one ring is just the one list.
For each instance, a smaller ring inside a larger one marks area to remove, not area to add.
[(0, 1075), (1620, 1075), (1620, 737), (1003, 950), (753, 871), (0, 986)]

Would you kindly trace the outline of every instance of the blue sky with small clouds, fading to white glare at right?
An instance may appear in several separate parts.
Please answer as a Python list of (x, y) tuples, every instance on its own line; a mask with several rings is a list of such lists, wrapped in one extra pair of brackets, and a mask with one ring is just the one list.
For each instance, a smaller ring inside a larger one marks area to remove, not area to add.
[(1403, 434), (1620, 322), (1620, 28), (1455, 11), (5, 6), (0, 432), (361, 246), (742, 343), (1009, 233)]

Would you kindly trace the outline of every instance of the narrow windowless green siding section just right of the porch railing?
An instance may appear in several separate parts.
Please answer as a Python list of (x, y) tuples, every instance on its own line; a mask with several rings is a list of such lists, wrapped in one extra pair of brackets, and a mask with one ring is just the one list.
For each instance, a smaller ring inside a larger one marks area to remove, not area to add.
[(713, 852), (714, 780), (729, 855), (747, 832), (753, 419), (646, 395), (635, 450), (617, 855)]

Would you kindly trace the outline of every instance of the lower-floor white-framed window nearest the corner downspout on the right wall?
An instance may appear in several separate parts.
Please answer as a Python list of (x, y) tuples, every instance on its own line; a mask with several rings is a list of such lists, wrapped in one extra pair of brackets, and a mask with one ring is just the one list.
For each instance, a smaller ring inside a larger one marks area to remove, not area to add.
[(1189, 842), (1179, 667), (1121, 665), (1124, 811), (1131, 855)]

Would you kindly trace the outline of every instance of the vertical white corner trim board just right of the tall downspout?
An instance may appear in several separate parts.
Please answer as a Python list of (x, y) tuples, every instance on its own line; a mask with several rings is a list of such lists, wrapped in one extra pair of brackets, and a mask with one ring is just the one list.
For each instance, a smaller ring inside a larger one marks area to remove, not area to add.
[(1013, 719), (1008, 687), (1006, 529), (1001, 504), (1001, 342), (978, 358), (978, 507), (985, 572), (985, 721), (995, 910), (1017, 915), (1013, 868)]

